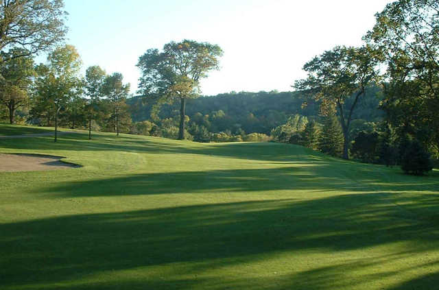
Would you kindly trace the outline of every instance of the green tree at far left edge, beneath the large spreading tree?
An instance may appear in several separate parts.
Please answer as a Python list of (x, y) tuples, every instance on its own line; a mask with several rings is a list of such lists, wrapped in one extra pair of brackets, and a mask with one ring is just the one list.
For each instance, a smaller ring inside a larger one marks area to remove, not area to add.
[(15, 111), (27, 104), (29, 90), (32, 86), (34, 60), (22, 55), (23, 49), (11, 49), (8, 53), (1, 52), (1, 59), (10, 59), (9, 62), (0, 60), (0, 102), (8, 108), (9, 122), (14, 123)]

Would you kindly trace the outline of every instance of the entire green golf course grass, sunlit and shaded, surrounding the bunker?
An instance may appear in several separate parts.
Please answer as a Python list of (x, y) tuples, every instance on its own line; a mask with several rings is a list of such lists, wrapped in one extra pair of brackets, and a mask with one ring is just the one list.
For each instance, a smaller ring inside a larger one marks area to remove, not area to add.
[(0, 289), (439, 283), (439, 171), (276, 143), (86, 137), (0, 139), (3, 153), (84, 166), (0, 173)]

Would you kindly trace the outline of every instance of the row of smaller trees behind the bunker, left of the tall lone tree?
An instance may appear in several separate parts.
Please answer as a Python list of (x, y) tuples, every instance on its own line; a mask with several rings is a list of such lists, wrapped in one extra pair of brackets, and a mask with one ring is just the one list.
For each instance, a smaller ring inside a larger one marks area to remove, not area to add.
[(5, 58), (0, 83), (1, 102), (14, 123), (16, 112), (27, 123), (55, 127), (87, 128), (88, 138), (92, 130), (114, 131), (130, 123), (126, 99), (130, 85), (123, 84), (121, 73), (107, 75), (99, 66), (86, 69), (80, 75), (82, 61), (72, 45), (55, 47), (47, 56), (47, 62), (34, 64), (32, 56), (13, 58), (22, 53), (12, 49), (2, 53)]

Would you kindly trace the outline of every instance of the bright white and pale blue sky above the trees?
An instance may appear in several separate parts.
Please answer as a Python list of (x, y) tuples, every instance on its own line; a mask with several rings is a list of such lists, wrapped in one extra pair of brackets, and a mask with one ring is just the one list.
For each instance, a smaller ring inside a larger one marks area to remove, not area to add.
[(147, 49), (184, 39), (219, 45), (202, 95), (294, 90), (303, 64), (336, 45), (359, 46), (388, 0), (64, 0), (67, 43), (86, 67), (119, 72), (137, 91)]

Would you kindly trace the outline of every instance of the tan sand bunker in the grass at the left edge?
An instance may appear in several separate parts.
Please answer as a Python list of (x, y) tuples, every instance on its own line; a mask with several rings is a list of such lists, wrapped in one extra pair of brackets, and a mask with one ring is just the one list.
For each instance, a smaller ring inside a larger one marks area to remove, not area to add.
[(0, 171), (57, 170), (80, 167), (61, 162), (62, 157), (38, 154), (0, 154)]

